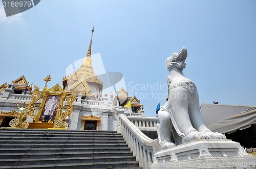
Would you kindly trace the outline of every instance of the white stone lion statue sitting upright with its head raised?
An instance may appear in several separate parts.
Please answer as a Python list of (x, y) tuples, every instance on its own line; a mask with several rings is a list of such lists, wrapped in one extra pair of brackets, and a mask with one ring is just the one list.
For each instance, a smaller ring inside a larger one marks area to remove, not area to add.
[[(161, 150), (198, 139), (226, 139), (221, 133), (210, 131), (199, 109), (199, 97), (194, 82), (183, 75), (187, 50), (166, 59), (169, 70), (169, 98), (158, 112), (157, 133)], [(173, 131), (175, 143), (170, 140)]]

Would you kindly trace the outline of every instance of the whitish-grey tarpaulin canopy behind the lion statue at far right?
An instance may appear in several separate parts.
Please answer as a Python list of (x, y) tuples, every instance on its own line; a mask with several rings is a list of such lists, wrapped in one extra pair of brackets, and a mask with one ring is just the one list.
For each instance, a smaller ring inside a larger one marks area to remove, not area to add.
[(256, 107), (202, 104), (200, 110), (206, 126), (214, 132), (230, 134), (256, 124)]

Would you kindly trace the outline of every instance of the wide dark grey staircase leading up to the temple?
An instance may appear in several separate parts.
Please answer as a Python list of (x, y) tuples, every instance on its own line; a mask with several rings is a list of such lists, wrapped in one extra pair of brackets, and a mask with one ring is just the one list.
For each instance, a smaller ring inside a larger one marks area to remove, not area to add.
[(0, 168), (140, 168), (116, 131), (0, 129)]

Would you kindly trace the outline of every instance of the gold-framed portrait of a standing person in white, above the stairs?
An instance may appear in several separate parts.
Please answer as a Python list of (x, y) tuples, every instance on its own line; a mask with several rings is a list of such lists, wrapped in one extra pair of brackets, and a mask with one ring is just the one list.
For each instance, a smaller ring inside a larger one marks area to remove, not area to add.
[(39, 106), (38, 113), (35, 117), (35, 123), (53, 123), (59, 105), (63, 105), (63, 100), (66, 98), (66, 92), (56, 84), (49, 90), (42, 93), (42, 103)]

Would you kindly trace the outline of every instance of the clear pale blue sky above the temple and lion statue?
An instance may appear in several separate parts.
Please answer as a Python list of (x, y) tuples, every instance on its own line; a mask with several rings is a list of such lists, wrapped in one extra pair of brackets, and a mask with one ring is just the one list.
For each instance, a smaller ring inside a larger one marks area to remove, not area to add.
[(66, 67), (86, 56), (94, 26), (92, 54), (100, 53), (106, 71), (123, 74), (127, 91), (140, 93), (146, 116), (165, 103), (165, 59), (183, 46), (184, 75), (196, 83), (200, 104), (255, 106), (255, 7), (254, 0), (42, 0), (6, 17), (0, 5), (0, 85), (25, 75), (42, 88), (49, 74), (49, 87), (62, 84)]

